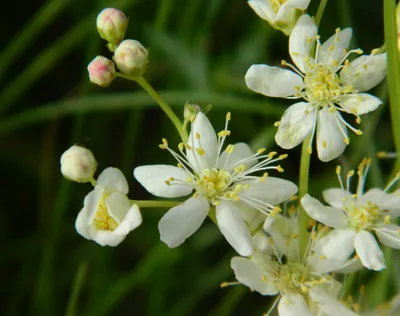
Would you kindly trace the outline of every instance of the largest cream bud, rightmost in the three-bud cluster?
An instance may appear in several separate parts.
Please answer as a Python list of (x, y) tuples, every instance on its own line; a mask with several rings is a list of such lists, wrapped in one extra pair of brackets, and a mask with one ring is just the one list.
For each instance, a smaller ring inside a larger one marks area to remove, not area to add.
[(114, 60), (122, 73), (141, 76), (147, 68), (148, 55), (139, 41), (125, 40), (115, 50)]

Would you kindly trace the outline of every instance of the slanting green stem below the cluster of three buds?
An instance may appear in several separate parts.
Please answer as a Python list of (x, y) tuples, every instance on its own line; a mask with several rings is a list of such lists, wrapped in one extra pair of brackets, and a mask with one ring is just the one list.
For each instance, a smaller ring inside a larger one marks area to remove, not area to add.
[(164, 111), (164, 113), (169, 117), (172, 124), (174, 124), (176, 130), (179, 133), (182, 141), (184, 143), (187, 142), (188, 135), (186, 130), (183, 129), (182, 123), (179, 118), (176, 116), (175, 112), (171, 109), (171, 107), (164, 101), (163, 98), (153, 89), (153, 87), (148, 83), (148, 81), (143, 77), (130, 77), (128, 75), (124, 75), (121, 73), (117, 73), (118, 77), (125, 78), (128, 80), (136, 81), (140, 86), (146, 90), (146, 92), (157, 102), (160, 108)]

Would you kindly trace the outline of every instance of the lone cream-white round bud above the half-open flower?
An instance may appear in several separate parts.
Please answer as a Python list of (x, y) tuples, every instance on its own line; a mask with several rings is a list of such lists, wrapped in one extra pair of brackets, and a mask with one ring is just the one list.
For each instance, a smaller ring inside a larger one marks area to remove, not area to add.
[(89, 182), (97, 168), (92, 152), (80, 146), (72, 146), (64, 152), (60, 163), (63, 176), (79, 183)]

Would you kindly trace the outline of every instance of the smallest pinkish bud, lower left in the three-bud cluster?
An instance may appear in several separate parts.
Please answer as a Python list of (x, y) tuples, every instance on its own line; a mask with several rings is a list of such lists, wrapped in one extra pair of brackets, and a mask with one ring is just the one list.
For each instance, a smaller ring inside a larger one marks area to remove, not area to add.
[(116, 77), (115, 64), (112, 60), (97, 56), (88, 65), (90, 81), (100, 87), (107, 87)]

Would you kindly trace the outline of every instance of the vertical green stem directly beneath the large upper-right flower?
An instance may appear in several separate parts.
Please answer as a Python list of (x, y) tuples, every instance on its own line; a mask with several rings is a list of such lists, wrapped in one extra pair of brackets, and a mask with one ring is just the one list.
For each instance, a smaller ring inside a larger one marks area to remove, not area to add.
[[(311, 155), (308, 152), (308, 148), (310, 146), (311, 135), (307, 137), (307, 139), (303, 142), (303, 146), (301, 148), (301, 158), (300, 158), (300, 176), (299, 176), (299, 201), (301, 201), (302, 197), (308, 193), (308, 177), (310, 170), (310, 158)], [(303, 257), (307, 244), (308, 244), (308, 231), (307, 231), (307, 223), (308, 215), (304, 208), (301, 206), (301, 202), (299, 203), (299, 247), (300, 247), (300, 258)]]

